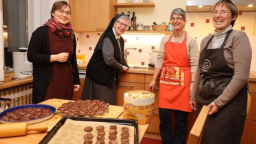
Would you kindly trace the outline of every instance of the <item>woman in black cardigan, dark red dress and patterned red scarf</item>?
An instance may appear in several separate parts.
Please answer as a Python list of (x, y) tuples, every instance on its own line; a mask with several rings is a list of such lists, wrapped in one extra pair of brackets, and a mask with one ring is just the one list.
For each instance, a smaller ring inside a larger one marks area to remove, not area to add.
[(51, 19), (32, 33), (27, 57), (33, 63), (33, 103), (52, 98), (72, 100), (73, 90), (80, 88), (70, 16), (70, 5), (57, 1)]

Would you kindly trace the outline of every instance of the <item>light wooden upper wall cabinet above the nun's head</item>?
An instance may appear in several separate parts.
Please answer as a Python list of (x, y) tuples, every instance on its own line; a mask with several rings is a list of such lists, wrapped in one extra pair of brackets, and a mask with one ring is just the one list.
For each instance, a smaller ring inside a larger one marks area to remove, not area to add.
[(117, 0), (70, 0), (74, 31), (104, 31), (117, 12), (114, 3)]

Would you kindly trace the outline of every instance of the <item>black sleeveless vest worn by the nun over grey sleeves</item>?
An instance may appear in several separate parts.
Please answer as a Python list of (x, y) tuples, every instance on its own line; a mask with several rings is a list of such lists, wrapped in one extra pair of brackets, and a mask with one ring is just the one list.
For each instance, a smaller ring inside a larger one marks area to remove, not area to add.
[[(124, 59), (123, 37), (122, 36), (120, 37), (121, 51), (112, 29), (105, 33), (104, 38), (106, 37), (108, 37), (113, 43), (115, 60), (118, 61), (120, 64), (126, 64), (126, 61)], [(122, 59), (120, 61), (121, 54), (122, 54)], [(123, 63), (124, 61), (125, 63)], [(108, 66), (104, 62), (101, 48), (93, 52), (93, 55), (86, 68), (86, 76), (88, 76), (91, 81), (102, 86), (112, 87), (115, 74), (116, 74), (116, 84), (117, 84), (118, 73), (119, 73), (119, 70)]]

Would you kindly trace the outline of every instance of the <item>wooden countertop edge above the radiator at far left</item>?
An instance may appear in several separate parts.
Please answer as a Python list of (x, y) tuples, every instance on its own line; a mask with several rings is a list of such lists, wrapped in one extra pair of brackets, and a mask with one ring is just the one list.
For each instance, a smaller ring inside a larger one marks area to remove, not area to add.
[(22, 80), (12, 79), (8, 82), (4, 82), (3, 84), (0, 84), (0, 90), (5, 89), (5, 88), (9, 88), (9, 87), (13, 87), (13, 86), (26, 84), (26, 83), (31, 83), (31, 82), (33, 82), (33, 77), (25, 78), (25, 79), (22, 79)]

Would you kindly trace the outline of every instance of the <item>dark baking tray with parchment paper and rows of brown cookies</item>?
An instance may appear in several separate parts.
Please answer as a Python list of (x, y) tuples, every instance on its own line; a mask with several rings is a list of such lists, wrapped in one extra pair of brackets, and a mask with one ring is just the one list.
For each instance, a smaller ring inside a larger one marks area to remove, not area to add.
[(39, 144), (139, 144), (138, 121), (62, 117)]

